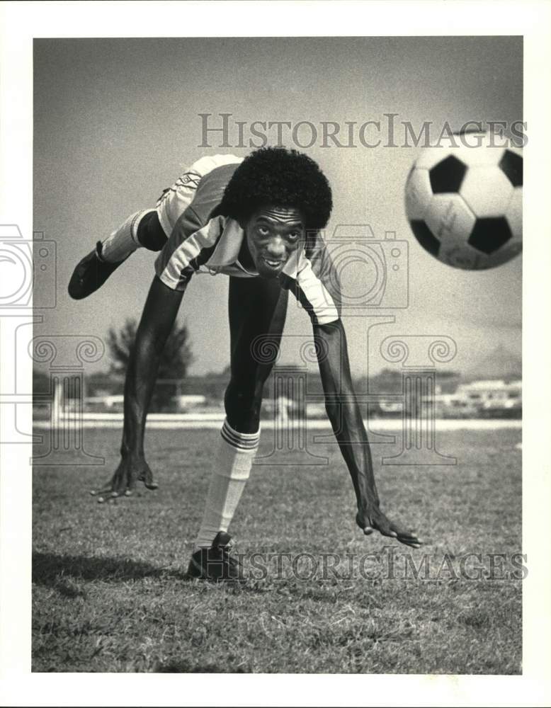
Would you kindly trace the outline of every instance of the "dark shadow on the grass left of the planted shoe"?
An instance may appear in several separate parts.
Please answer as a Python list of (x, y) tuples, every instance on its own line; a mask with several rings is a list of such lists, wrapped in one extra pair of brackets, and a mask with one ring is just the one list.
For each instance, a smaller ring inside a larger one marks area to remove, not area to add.
[(183, 580), (183, 573), (127, 558), (33, 553), (33, 583), (47, 587), (59, 588), (60, 578), (124, 582), (161, 577)]

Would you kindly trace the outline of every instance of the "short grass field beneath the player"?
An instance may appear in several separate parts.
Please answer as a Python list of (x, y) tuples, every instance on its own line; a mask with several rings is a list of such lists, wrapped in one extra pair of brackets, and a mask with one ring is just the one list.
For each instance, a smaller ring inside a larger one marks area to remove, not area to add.
[[(243, 586), (183, 580), (216, 435), (149, 432), (161, 486), (115, 504), (88, 491), (114, 469), (116, 430), (86, 430), (106, 467), (35, 468), (33, 670), (521, 673), (521, 581), (440, 572), (444, 554), (484, 554), (488, 569), (488, 554), (521, 552), (520, 430), (440, 433), (456, 467), (376, 464), (385, 510), (425, 541), (428, 579), (347, 574), (387, 539), (355, 527), (335, 447), (322, 446), (329, 466), (255, 466), (231, 529), (239, 552), (339, 554), (341, 578), (312, 576), (303, 557), (300, 577), (285, 562)], [(421, 558), (396, 546), (396, 568), (406, 554)]]

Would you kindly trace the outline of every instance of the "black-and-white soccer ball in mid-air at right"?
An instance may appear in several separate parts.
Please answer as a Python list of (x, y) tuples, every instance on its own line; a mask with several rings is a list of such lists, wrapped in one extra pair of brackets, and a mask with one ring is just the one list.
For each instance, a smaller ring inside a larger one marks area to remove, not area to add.
[(409, 172), (411, 229), (428, 253), (454, 268), (494, 268), (522, 251), (522, 151), (496, 147), (499, 140), (454, 135), (424, 148)]

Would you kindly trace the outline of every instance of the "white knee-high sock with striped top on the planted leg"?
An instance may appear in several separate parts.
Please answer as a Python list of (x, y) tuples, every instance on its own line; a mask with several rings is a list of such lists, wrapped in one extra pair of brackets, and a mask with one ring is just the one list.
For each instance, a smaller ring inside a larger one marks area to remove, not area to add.
[(238, 433), (224, 421), (221, 433), (212, 460), (212, 476), (203, 522), (195, 540), (196, 549), (210, 547), (219, 531), (228, 530), (259, 447), (260, 431)]

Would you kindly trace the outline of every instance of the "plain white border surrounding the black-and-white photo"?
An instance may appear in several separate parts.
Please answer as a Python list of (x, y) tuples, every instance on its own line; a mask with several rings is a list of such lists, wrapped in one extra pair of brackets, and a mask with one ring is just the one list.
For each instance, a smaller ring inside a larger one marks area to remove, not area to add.
[[(30, 673), (28, 445), (0, 445), (0, 700), (8, 705), (543, 706), (551, 703), (549, 316), (551, 5), (548, 2), (4, 2), (0, 6), (0, 224), (32, 236), (33, 38), (524, 35), (523, 675)], [(484, 70), (484, 67), (482, 67)], [(0, 395), (13, 362), (2, 362)], [(19, 362), (21, 366), (21, 361)], [(28, 380), (31, 362), (28, 360)], [(21, 425), (30, 430), (30, 406)], [(0, 406), (0, 440), (4, 433)], [(5, 421), (4, 421), (5, 422)], [(504, 520), (506, 522), (506, 520)], [(223, 685), (223, 693), (220, 686)], [(211, 692), (211, 691), (209, 691)], [(226, 698), (226, 695), (229, 698)]]

